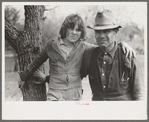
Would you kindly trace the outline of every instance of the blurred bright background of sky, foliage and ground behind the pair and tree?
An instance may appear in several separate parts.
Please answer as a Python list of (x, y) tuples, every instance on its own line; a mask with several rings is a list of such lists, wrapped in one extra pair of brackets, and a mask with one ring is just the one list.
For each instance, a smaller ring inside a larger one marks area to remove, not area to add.
[[(137, 58), (141, 64), (144, 72), (144, 34), (147, 23), (147, 4), (143, 2), (138, 3), (49, 3), (45, 5), (46, 9), (44, 15), (46, 17), (44, 23), (43, 43), (45, 44), (50, 38), (57, 39), (59, 29), (66, 18), (71, 13), (79, 14), (85, 26), (93, 26), (97, 11), (102, 9), (113, 10), (118, 18), (117, 23), (122, 25), (117, 39), (118, 41), (127, 42), (137, 53)], [(5, 17), (16, 27), (22, 31), (24, 29), (24, 5), (6, 5)], [(86, 29), (87, 42), (96, 44), (94, 31)], [(48, 61), (45, 62), (45, 73), (48, 74)], [(20, 101), (22, 94), (18, 88), (19, 80), (19, 66), (17, 55), (12, 47), (5, 40), (5, 100), (6, 101)], [(82, 80), (84, 96), (83, 101), (91, 100), (91, 90), (88, 78)]]

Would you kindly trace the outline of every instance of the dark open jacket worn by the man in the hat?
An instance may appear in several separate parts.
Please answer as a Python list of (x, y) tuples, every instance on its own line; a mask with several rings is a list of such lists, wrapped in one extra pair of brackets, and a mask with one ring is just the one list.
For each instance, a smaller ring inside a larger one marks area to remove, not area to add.
[(143, 98), (143, 75), (136, 58), (127, 59), (120, 46), (115, 52), (106, 90), (102, 85), (98, 69), (99, 47), (86, 50), (83, 56), (81, 76), (89, 74), (92, 100), (141, 100)]

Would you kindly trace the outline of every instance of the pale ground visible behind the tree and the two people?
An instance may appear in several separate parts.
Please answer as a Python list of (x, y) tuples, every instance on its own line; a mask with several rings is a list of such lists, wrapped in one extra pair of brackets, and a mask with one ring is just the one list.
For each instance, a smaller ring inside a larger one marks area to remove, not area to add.
[[(142, 69), (144, 69), (144, 55), (137, 55), (137, 57)], [(45, 67), (48, 67), (48, 62), (46, 62), (45, 65)], [(12, 58), (5, 58), (5, 82), (3, 82), (5, 89), (3, 88), (2, 93), (5, 93), (6, 101), (21, 101), (22, 94), (18, 88), (19, 74), (13, 72), (13, 66), (14, 60)], [(47, 74), (48, 68), (46, 68), (45, 71)], [(87, 77), (82, 80), (82, 87), (84, 89), (82, 101), (91, 101), (91, 89)]]

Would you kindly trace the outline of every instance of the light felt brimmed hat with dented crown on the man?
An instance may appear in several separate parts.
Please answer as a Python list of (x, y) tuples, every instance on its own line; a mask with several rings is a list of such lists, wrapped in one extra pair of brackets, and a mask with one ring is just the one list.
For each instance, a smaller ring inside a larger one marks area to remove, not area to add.
[(116, 15), (113, 11), (104, 9), (102, 12), (97, 12), (94, 27), (87, 26), (93, 30), (105, 30), (121, 28), (122, 26), (115, 23)]

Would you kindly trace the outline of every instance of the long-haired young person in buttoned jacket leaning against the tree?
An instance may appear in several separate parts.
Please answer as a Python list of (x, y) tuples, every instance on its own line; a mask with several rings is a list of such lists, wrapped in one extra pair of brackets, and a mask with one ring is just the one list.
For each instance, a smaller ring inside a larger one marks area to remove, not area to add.
[[(96, 46), (84, 42), (86, 37), (85, 26), (82, 18), (77, 14), (66, 17), (59, 34), (60, 37), (57, 40), (50, 39), (39, 56), (20, 74), (20, 78), (22, 81), (27, 80), (49, 59), (50, 78), (48, 79), (47, 100), (80, 100), (82, 96), (80, 68), (83, 53), (85, 50), (91, 50)], [(128, 53), (131, 52), (128, 45), (125, 43), (121, 43), (121, 45), (123, 47), (125, 45)]]

